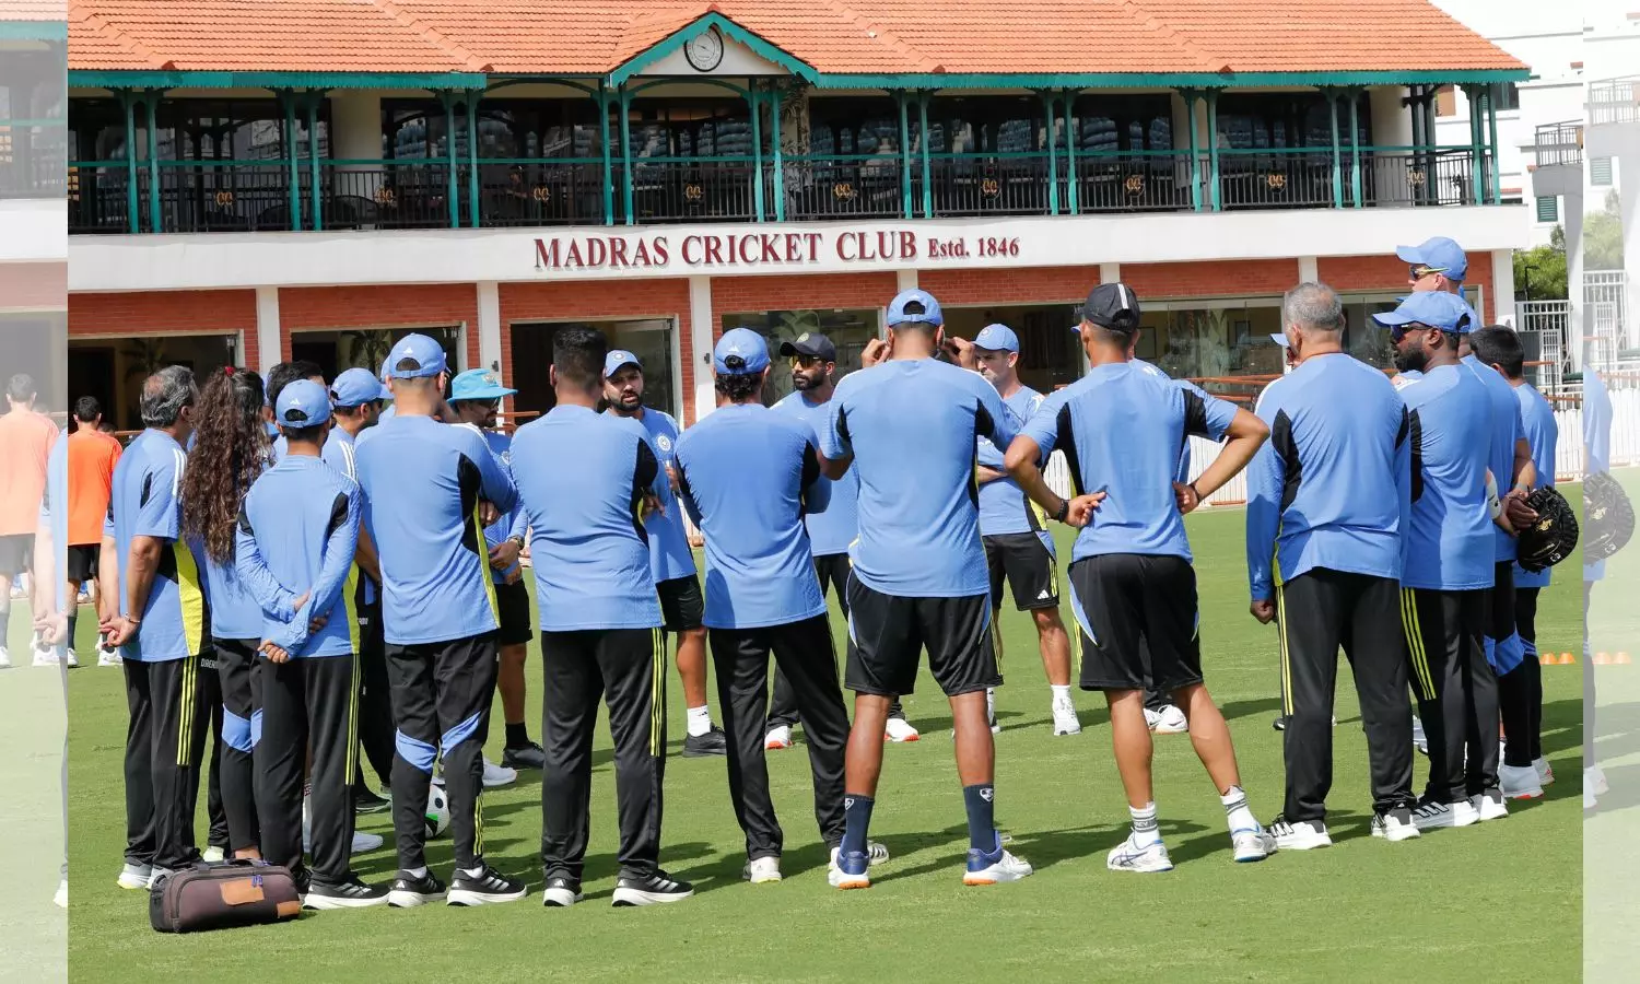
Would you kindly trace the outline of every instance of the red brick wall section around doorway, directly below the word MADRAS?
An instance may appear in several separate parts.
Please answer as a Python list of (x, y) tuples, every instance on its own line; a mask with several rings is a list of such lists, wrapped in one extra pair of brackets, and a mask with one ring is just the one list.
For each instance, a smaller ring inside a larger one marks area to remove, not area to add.
[(695, 356), (689, 341), (689, 280), (556, 280), (541, 284), (502, 284), (502, 379), (515, 379), (512, 364), (513, 321), (563, 321), (608, 318), (677, 320), (677, 356), (684, 389), (684, 425), (695, 417)]

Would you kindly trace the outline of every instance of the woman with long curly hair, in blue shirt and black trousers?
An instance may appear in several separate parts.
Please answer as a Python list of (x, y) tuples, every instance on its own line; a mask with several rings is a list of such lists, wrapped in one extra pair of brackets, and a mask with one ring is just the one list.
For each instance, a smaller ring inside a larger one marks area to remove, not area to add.
[(194, 413), (194, 448), (182, 477), (182, 535), (203, 561), (210, 635), (221, 681), (221, 800), (235, 858), (259, 858), (251, 786), (251, 674), (262, 643), (262, 610), (235, 571), (239, 505), (272, 462), (262, 426), (262, 379), (228, 367), (207, 380)]

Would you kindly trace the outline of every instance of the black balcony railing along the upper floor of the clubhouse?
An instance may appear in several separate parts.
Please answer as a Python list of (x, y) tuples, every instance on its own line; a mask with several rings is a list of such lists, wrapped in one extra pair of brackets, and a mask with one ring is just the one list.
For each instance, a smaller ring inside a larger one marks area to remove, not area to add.
[[(1360, 161), (1360, 171), (1356, 169)], [(90, 161), (72, 233), (507, 228), (1474, 205), (1469, 148), (484, 159)], [(927, 171), (925, 171), (927, 167)], [(605, 185), (605, 174), (608, 185)], [(630, 174), (630, 180), (628, 175)]]

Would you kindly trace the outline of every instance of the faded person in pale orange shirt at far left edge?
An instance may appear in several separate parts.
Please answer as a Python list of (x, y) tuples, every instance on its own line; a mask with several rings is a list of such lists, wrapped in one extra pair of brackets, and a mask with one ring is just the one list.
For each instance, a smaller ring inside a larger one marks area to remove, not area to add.
[[(57, 425), (34, 412), (34, 379), (13, 376), (5, 387), (7, 413), (0, 415), (0, 669), (11, 666), (7, 628), (11, 620), (11, 582), (33, 567), (39, 499), (46, 494), (46, 458), (57, 440)], [(33, 599), (31, 599), (33, 604)], [(49, 648), (34, 663), (51, 666)]]

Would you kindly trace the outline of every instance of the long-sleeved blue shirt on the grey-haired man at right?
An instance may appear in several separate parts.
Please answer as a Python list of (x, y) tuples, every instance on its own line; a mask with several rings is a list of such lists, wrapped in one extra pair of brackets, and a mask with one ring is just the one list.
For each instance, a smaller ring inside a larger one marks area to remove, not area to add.
[(1412, 458), (1389, 379), (1315, 356), (1264, 387), (1256, 412), (1269, 441), (1246, 469), (1251, 597), (1315, 567), (1399, 579)]

